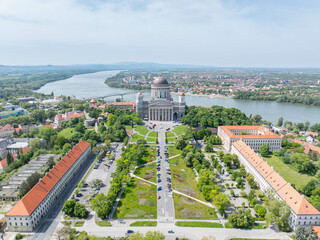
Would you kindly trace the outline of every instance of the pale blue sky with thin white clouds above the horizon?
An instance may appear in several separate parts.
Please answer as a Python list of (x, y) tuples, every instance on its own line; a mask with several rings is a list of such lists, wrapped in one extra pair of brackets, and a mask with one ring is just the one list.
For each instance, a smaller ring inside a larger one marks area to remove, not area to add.
[(320, 68), (319, 0), (0, 0), (0, 64)]

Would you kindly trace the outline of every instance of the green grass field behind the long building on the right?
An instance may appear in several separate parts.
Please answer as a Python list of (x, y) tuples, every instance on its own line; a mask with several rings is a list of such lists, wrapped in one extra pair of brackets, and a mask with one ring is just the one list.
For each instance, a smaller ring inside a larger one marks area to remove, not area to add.
[(280, 176), (287, 182), (295, 184), (297, 189), (303, 188), (310, 180), (315, 179), (313, 176), (298, 173), (296, 170), (285, 164), (278, 157), (271, 155), (263, 158), (268, 164), (273, 166), (274, 170), (280, 173)]

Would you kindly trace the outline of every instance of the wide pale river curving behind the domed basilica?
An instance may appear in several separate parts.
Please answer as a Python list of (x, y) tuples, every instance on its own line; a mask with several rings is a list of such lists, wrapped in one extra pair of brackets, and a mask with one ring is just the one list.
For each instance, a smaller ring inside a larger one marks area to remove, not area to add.
[[(41, 87), (37, 92), (50, 94), (53, 92), (56, 96), (65, 95), (73, 96), (78, 99), (98, 98), (109, 96), (105, 100), (113, 101), (119, 94), (128, 101), (135, 101), (135, 94), (138, 91), (111, 88), (104, 84), (109, 76), (117, 74), (119, 71), (104, 71), (89, 74), (75, 75), (71, 78), (48, 83)], [(147, 99), (149, 92), (144, 93)], [(177, 95), (172, 95), (177, 100)], [(198, 96), (186, 96), (187, 105), (196, 105), (210, 107), (212, 105), (220, 105), (224, 107), (234, 107), (240, 109), (248, 116), (250, 114), (260, 114), (264, 120), (276, 123), (279, 117), (294, 123), (305, 122), (309, 120), (311, 124), (320, 122), (320, 107), (306, 106), (300, 104), (263, 102), (263, 101), (247, 101), (236, 100), (232, 98), (207, 98)]]

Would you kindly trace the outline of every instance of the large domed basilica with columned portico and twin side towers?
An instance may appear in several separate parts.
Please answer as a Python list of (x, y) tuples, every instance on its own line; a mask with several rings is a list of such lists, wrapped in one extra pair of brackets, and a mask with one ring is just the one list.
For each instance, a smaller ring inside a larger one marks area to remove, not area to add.
[(185, 115), (185, 107), (184, 93), (180, 93), (179, 101), (174, 102), (170, 95), (170, 84), (161, 75), (153, 81), (148, 101), (143, 100), (141, 92), (136, 98), (137, 113), (142, 119), (149, 121), (181, 121)]

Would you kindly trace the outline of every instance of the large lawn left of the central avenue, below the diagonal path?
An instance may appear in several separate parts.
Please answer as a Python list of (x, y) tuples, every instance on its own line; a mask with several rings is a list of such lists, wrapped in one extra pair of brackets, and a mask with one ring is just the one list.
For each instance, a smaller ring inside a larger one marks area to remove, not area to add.
[(115, 218), (157, 218), (156, 186), (133, 178), (121, 196)]

